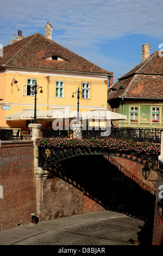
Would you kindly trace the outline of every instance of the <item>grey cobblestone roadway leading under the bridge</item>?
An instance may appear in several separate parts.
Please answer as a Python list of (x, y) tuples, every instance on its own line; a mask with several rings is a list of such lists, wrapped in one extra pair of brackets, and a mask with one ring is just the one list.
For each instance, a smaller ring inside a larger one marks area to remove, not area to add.
[(45, 231), (14, 245), (139, 245), (144, 226), (142, 220), (114, 216)]

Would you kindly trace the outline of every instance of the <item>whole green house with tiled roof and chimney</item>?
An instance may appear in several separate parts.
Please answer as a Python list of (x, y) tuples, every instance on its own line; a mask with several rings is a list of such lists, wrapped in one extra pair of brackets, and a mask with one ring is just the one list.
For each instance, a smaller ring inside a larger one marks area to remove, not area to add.
[(143, 45), (142, 62), (108, 88), (108, 109), (127, 115), (115, 126), (163, 128), (163, 57), (149, 48)]

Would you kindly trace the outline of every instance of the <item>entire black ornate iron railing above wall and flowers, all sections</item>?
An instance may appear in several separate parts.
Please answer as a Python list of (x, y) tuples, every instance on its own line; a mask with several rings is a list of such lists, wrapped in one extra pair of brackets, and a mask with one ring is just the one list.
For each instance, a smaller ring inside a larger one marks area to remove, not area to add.
[[(105, 137), (105, 129), (101, 127), (97, 130), (89, 130), (82, 126), (82, 138), (90, 137)], [(119, 139), (133, 139), (135, 141), (149, 141), (154, 143), (161, 142), (161, 131), (163, 129), (152, 128), (130, 128), (130, 127), (111, 127), (110, 137)], [(2, 141), (15, 141), (31, 138), (31, 129), (27, 127), (0, 127), (0, 139)], [(105, 134), (106, 135), (106, 134)], [(63, 130), (57, 130), (57, 127), (42, 126), (40, 129), (40, 136), (43, 138), (49, 137), (67, 137), (73, 138), (73, 130), (70, 127), (64, 127)]]

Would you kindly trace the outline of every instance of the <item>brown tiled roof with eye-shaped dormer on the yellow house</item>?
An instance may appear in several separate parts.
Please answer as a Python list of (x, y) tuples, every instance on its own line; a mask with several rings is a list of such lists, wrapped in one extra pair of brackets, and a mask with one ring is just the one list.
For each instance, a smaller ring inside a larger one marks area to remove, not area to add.
[[(59, 57), (60, 60), (48, 59), (52, 56)], [(40, 33), (4, 46), (0, 67), (2, 65), (112, 75), (111, 72), (89, 62)]]

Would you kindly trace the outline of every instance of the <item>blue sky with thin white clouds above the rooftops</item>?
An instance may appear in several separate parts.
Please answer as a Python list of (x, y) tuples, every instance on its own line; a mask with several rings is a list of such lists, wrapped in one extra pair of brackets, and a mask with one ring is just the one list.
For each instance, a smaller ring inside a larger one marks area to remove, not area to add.
[(45, 35), (80, 56), (114, 72), (114, 82), (141, 62), (142, 45), (151, 54), (163, 43), (161, 0), (15, 0), (1, 3), (0, 44), (7, 45), (17, 30)]

